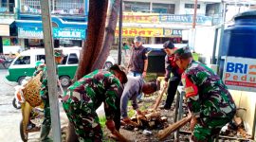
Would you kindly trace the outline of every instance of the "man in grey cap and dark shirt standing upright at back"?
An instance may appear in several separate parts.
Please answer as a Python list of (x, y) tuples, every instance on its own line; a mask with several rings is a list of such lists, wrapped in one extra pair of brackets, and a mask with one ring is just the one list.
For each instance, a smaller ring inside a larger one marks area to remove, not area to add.
[[(132, 48), (132, 55), (128, 63), (128, 75), (145, 78), (148, 69), (147, 48), (142, 45), (142, 38), (140, 36), (135, 37), (134, 43), (135, 47)], [(141, 97), (142, 94), (138, 95), (137, 99), (140, 100)]]

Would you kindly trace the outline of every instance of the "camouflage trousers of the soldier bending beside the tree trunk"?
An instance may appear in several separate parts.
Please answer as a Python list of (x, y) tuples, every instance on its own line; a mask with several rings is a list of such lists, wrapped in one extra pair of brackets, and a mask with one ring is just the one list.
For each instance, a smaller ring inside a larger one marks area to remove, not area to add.
[(94, 102), (87, 94), (67, 92), (63, 98), (64, 111), (74, 125), (81, 142), (102, 141), (99, 117)]

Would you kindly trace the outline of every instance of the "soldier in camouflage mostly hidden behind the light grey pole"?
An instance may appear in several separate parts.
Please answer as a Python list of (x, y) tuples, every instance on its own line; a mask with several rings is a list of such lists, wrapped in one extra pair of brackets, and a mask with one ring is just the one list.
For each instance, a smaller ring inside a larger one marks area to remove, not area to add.
[[(55, 56), (55, 62), (56, 64), (60, 64), (63, 62), (64, 59), (64, 54), (62, 53), (62, 50), (55, 49), (54, 50), (54, 56)], [(56, 66), (57, 68), (57, 66)], [(58, 78), (58, 76), (56, 75)], [(40, 140), (42, 142), (45, 141), (52, 141), (49, 137), (48, 134), (51, 129), (51, 119), (50, 119), (50, 106), (49, 106), (49, 96), (48, 96), (48, 85), (47, 85), (47, 74), (46, 74), (46, 67), (43, 70), (43, 75), (41, 77), (42, 85), (41, 85), (41, 90), (40, 90), (40, 96), (45, 104), (44, 108), (44, 121), (41, 125), (41, 134), (40, 134)], [(57, 86), (56, 86), (57, 87)]]

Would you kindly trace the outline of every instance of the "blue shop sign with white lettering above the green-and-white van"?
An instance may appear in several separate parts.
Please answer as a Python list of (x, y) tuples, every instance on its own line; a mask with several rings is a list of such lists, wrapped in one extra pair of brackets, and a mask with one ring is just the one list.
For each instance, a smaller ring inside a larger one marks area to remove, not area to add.
[[(85, 29), (53, 28), (55, 39), (85, 39)], [(18, 37), (23, 39), (44, 39), (42, 27), (18, 27)]]

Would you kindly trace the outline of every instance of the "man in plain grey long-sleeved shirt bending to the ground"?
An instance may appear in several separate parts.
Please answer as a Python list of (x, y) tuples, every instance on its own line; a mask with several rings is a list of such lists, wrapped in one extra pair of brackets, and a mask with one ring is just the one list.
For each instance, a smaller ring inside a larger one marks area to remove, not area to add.
[(127, 115), (128, 100), (132, 100), (132, 106), (137, 111), (138, 115), (142, 115), (137, 105), (137, 95), (141, 94), (152, 94), (157, 90), (155, 82), (144, 82), (141, 77), (127, 76), (127, 83), (124, 85), (122, 96), (120, 98), (120, 113), (122, 120), (125, 123), (131, 122), (131, 119)]

